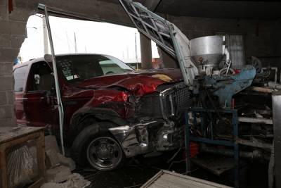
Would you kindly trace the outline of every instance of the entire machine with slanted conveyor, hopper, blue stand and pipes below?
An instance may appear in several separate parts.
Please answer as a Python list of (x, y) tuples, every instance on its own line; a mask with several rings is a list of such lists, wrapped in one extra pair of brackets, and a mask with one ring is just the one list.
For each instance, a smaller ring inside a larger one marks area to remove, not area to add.
[(271, 94), (280, 85), (276, 78), (274, 84), (269, 82), (272, 68), (262, 68), (254, 57), (248, 65), (232, 68), (227, 36), (189, 40), (176, 25), (145, 6), (130, 0), (119, 1), (139, 32), (178, 61), (183, 80), (192, 93), (194, 102), (186, 106), (185, 115), (188, 171), (190, 142), (197, 142), (202, 152), (234, 156), (235, 187), (239, 187), (239, 158), (270, 161), (268, 180), (269, 186), (273, 186)]

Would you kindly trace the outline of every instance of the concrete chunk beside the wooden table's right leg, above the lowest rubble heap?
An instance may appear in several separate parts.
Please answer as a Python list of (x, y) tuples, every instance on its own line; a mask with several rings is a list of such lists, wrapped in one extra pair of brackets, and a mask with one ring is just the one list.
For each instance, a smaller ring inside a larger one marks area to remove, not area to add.
[(70, 168), (65, 165), (59, 165), (46, 171), (47, 182), (64, 182), (69, 175), (71, 175)]

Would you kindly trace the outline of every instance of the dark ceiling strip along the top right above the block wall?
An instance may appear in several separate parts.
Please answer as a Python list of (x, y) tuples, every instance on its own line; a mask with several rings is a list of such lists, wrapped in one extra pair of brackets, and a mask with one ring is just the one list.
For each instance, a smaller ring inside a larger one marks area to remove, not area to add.
[[(119, 4), (118, 0), (98, 0)], [(280, 0), (133, 0), (152, 11), (204, 18), (277, 19)]]

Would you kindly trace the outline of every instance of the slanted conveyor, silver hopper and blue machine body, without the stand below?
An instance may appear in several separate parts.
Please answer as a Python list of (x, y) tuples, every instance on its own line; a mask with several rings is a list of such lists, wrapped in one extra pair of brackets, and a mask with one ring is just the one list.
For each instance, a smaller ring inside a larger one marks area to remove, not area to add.
[[(120, 1), (133, 23), (168, 54), (177, 58), (185, 84), (202, 98), (202, 90), (218, 97), (219, 107), (230, 108), (232, 96), (249, 87), (256, 76), (251, 65), (234, 72), (226, 37), (208, 36), (189, 40), (159, 15), (133, 1)], [(206, 106), (207, 107), (207, 106)]]

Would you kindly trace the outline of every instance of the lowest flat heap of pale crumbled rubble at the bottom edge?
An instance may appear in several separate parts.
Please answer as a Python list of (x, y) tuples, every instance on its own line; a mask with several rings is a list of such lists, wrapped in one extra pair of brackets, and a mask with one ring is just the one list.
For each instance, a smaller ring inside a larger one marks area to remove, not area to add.
[(41, 188), (84, 188), (91, 184), (85, 180), (83, 176), (73, 173), (67, 177), (67, 181), (63, 183), (48, 182), (41, 186)]

